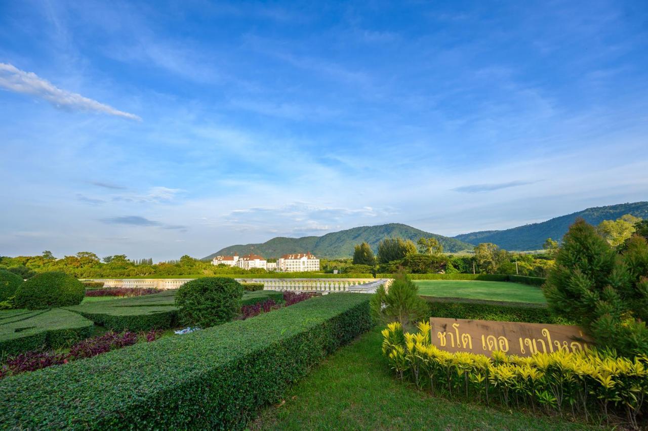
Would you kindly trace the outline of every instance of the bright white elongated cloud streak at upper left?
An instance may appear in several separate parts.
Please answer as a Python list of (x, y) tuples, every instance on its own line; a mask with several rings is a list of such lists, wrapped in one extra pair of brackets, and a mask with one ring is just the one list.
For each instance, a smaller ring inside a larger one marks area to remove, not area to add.
[(142, 120), (137, 115), (119, 111), (119, 109), (84, 97), (81, 94), (60, 89), (51, 82), (40, 78), (34, 72), (21, 71), (16, 66), (8, 63), (0, 63), (0, 87), (14, 93), (30, 94), (47, 100), (57, 108), (102, 113), (136, 121)]

